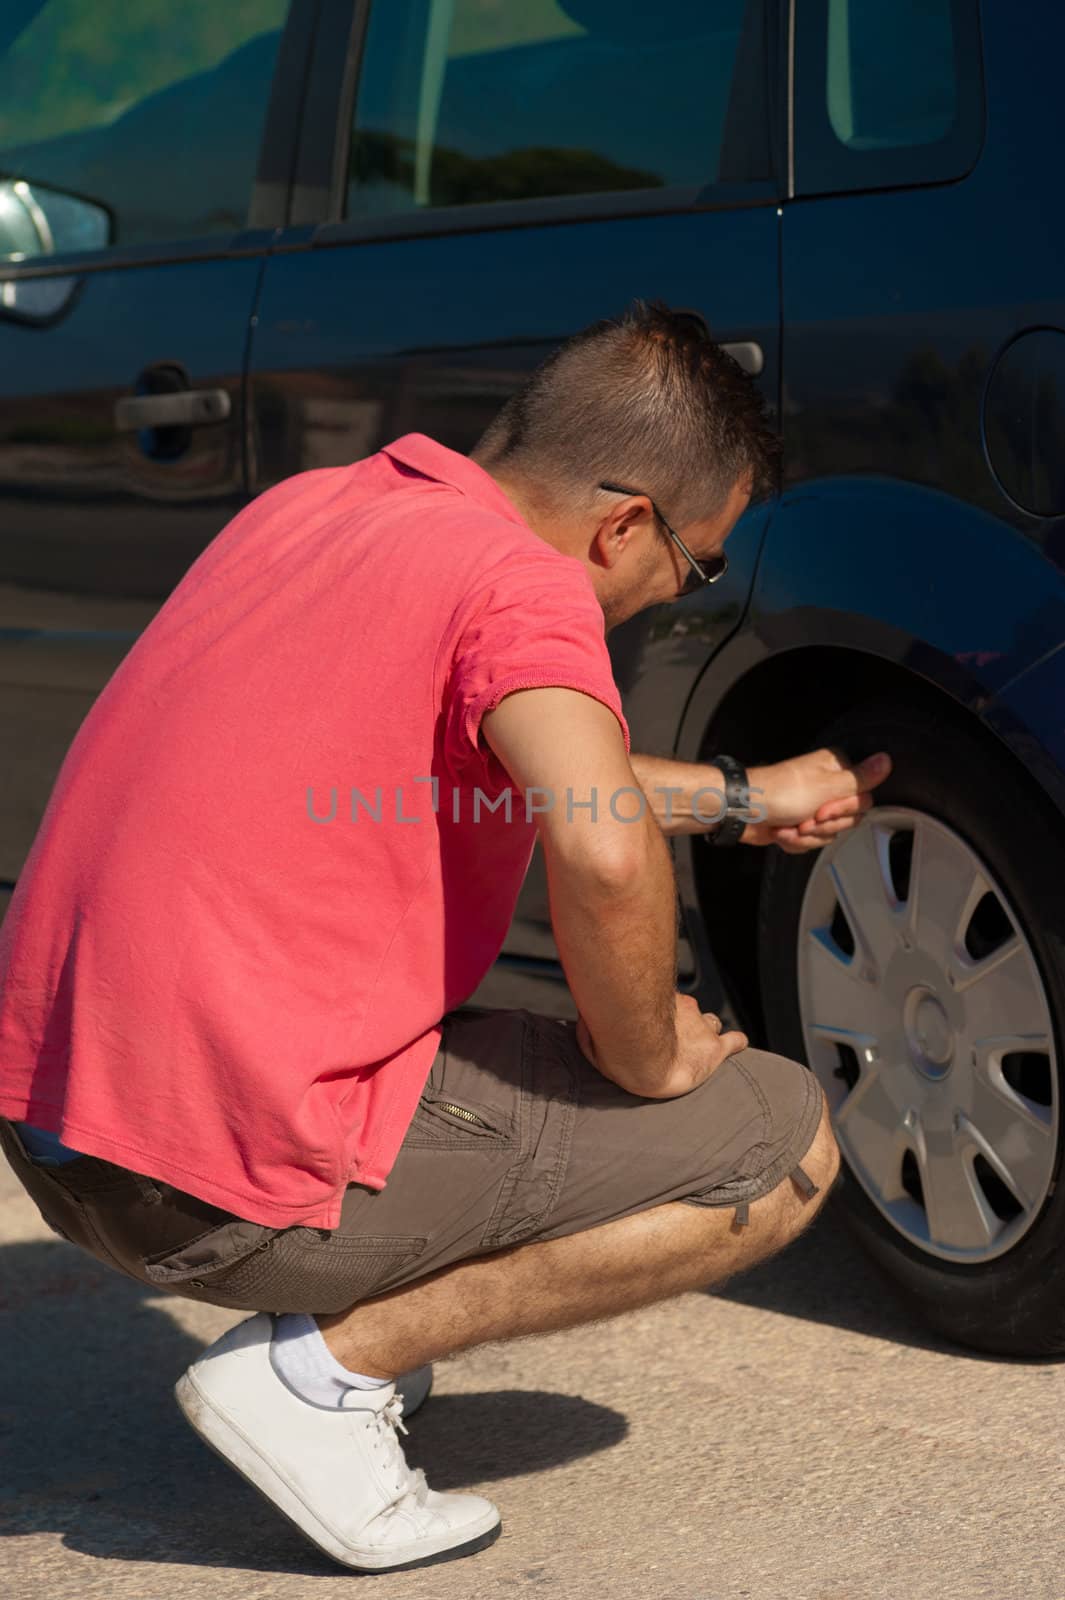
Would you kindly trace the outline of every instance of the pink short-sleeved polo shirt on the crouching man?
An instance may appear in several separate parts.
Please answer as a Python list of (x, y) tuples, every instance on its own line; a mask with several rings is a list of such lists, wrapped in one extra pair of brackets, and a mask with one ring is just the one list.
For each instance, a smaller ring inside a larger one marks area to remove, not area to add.
[(409, 434), (261, 494), (62, 763), (0, 928), (0, 1114), (334, 1227), (502, 946), (536, 821), (478, 730), (545, 685), (628, 746), (587, 570), (465, 456)]

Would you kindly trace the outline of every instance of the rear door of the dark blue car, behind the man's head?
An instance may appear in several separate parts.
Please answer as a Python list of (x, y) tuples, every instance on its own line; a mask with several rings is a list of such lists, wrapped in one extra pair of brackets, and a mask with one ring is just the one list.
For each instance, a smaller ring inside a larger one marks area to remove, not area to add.
[[(776, 398), (779, 30), (764, 0), (326, 0), (251, 342), (254, 486), (408, 430), (467, 451), (636, 296), (702, 312)], [(763, 523), (726, 582), (611, 635), (633, 749), (672, 750)], [(558, 973), (539, 853), (507, 950)]]

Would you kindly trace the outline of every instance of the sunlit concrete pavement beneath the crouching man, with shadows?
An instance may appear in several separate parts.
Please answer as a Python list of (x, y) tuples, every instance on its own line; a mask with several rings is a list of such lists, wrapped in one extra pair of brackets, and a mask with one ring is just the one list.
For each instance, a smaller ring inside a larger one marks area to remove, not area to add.
[(461, 1357), (411, 1422), (504, 1536), (361, 1579), (189, 1430), (241, 1314), (154, 1296), (0, 1171), (0, 1594), (11, 1600), (1063, 1600), (1065, 1368), (926, 1339), (832, 1216), (720, 1294)]

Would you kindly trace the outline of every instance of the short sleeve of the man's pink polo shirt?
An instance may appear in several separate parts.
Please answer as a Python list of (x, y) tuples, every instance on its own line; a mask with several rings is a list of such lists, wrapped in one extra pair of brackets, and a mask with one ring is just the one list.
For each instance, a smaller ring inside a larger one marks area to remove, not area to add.
[(443, 690), (445, 755), (453, 773), (473, 766), (499, 790), (510, 779), (480, 739), (481, 720), (515, 690), (590, 694), (628, 723), (606, 648), (603, 610), (579, 562), (502, 562), (467, 611)]

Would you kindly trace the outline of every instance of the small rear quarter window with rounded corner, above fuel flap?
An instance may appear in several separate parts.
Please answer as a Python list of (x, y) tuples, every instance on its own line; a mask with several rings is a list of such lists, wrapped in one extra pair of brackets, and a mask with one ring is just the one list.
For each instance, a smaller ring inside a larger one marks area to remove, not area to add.
[(796, 10), (798, 192), (959, 178), (982, 141), (975, 0)]

